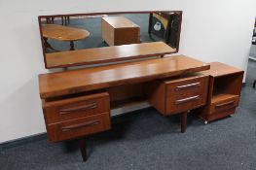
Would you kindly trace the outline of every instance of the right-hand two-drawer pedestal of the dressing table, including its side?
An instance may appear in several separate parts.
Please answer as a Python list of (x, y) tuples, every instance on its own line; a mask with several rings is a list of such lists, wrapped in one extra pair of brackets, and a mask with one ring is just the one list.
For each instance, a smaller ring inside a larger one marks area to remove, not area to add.
[(148, 85), (149, 103), (161, 114), (173, 115), (196, 109), (206, 103), (208, 76), (184, 75)]

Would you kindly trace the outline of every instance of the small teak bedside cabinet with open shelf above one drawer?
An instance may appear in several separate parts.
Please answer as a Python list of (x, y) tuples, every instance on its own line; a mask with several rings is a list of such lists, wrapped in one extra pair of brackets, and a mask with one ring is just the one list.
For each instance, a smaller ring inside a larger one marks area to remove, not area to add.
[(210, 70), (201, 72), (209, 76), (207, 104), (199, 109), (199, 116), (208, 121), (233, 115), (239, 102), (243, 71), (219, 63), (210, 63)]

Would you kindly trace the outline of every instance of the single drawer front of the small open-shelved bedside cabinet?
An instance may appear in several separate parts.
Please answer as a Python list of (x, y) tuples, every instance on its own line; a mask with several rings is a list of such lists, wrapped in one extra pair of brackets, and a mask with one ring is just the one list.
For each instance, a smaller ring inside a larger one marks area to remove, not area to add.
[(233, 98), (229, 98), (229, 99), (211, 104), (210, 114), (215, 114), (222, 111), (230, 110), (232, 108), (236, 108), (238, 106), (238, 99), (239, 97), (235, 96)]

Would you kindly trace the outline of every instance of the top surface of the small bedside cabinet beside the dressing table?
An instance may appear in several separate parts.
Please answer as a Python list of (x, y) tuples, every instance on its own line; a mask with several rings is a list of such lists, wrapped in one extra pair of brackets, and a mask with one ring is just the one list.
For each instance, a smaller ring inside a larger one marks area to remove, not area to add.
[(243, 72), (242, 70), (236, 67), (232, 67), (230, 65), (226, 65), (221, 62), (210, 62), (209, 65), (210, 65), (210, 69), (206, 71), (202, 71), (201, 73), (203, 73), (204, 75), (209, 75), (216, 78)]

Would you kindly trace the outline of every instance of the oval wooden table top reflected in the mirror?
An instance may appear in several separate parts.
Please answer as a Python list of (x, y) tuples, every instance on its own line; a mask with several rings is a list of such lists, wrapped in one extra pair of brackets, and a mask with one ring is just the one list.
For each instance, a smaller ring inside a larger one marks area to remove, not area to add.
[(89, 37), (90, 32), (85, 29), (79, 29), (57, 24), (43, 24), (43, 37), (60, 41), (77, 41)]

